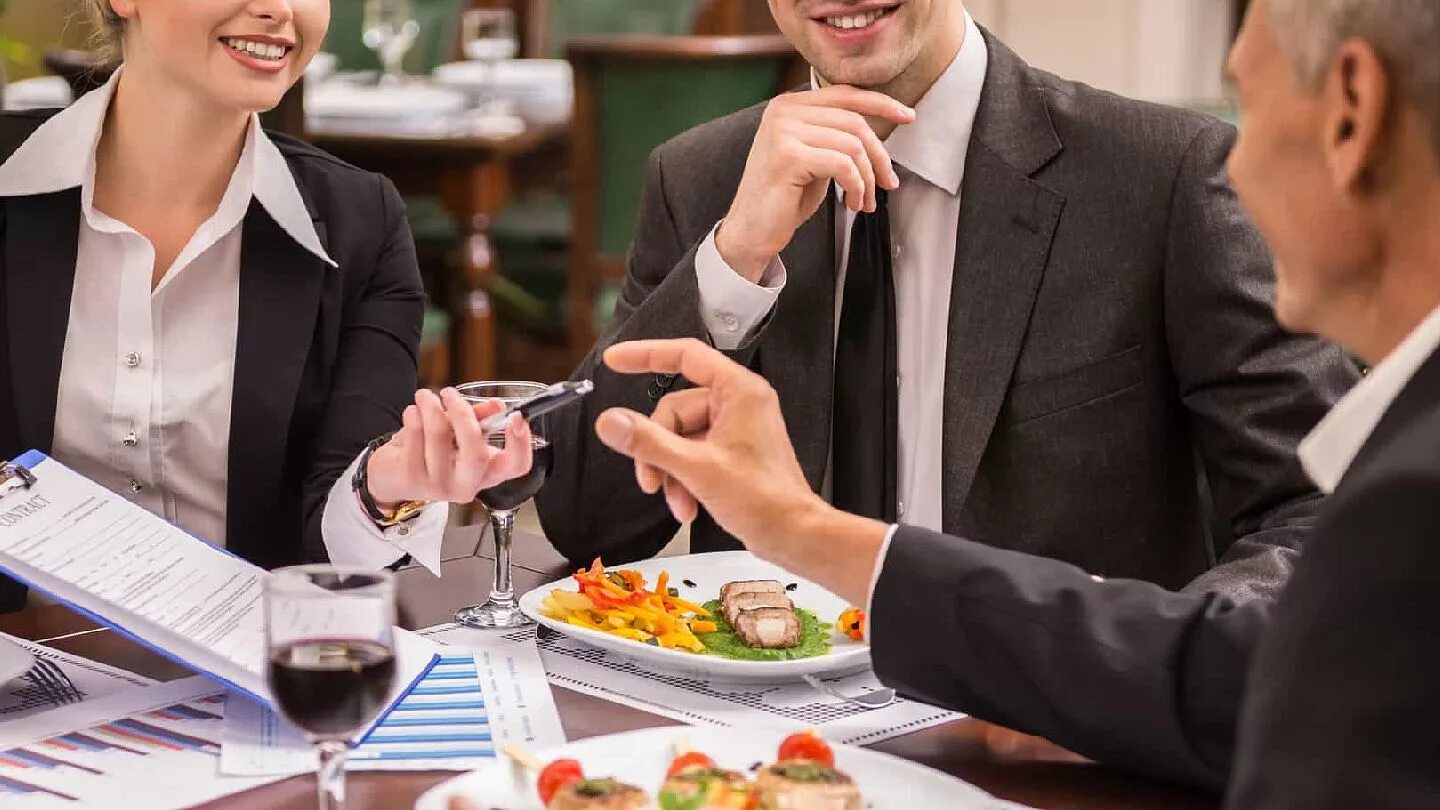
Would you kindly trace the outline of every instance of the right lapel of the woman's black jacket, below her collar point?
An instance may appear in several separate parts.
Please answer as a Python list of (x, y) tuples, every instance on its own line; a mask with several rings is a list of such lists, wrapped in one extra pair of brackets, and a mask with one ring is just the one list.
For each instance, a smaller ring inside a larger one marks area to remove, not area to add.
[(282, 497), (285, 444), (328, 268), (259, 202), (251, 202), (243, 229), (226, 545), (261, 561), (269, 516)]

